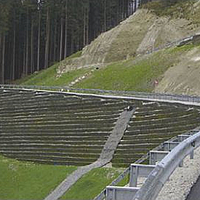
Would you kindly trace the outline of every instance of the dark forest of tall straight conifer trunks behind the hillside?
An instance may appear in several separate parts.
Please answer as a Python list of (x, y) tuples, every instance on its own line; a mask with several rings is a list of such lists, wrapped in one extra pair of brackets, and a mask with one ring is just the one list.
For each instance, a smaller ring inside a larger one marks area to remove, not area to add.
[[(147, 1), (147, 0), (143, 0)], [(0, 83), (81, 50), (141, 0), (0, 0)]]

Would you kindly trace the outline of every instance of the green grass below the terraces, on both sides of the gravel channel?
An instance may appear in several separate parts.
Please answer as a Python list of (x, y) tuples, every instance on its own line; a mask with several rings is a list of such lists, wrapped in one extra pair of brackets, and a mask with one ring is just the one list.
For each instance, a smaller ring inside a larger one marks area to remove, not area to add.
[[(76, 168), (40, 165), (0, 156), (0, 171), (3, 172), (0, 179), (0, 199), (44, 199)], [(116, 168), (95, 169), (79, 180), (62, 199), (92, 199), (122, 171), (123, 169)], [(121, 185), (125, 185), (126, 182), (125, 179)]]

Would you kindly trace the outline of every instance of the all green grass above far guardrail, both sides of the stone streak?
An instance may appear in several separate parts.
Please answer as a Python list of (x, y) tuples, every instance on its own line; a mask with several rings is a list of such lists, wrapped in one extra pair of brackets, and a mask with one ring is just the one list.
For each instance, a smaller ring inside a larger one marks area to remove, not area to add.
[(150, 55), (115, 62), (98, 70), (92, 70), (93, 68), (72, 70), (59, 78), (56, 78), (57, 65), (54, 65), (38, 75), (31, 75), (18, 83), (23, 85), (66, 86), (78, 77), (90, 72), (89, 76), (86, 76), (73, 87), (151, 92), (155, 88), (155, 80), (162, 80), (167, 69), (179, 63), (181, 56), (192, 48), (194, 48), (193, 45), (187, 45), (161, 50)]

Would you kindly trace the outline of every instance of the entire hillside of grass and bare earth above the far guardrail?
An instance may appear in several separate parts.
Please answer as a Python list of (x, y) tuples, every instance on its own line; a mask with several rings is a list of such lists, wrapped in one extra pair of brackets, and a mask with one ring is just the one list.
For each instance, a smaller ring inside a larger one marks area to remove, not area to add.
[[(119, 26), (100, 35), (79, 52), (78, 57), (56, 64), (53, 73), (43, 71), (21, 81), (21, 84), (199, 94), (198, 48), (186, 46), (143, 55), (146, 51), (199, 32), (199, 2), (184, 1), (184, 4), (164, 10), (164, 13), (159, 11), (157, 2), (147, 4), (148, 9), (138, 10)], [(188, 61), (190, 64), (183, 61), (185, 56), (188, 58), (193, 54), (193, 59)], [(156, 89), (155, 80), (159, 81)]]

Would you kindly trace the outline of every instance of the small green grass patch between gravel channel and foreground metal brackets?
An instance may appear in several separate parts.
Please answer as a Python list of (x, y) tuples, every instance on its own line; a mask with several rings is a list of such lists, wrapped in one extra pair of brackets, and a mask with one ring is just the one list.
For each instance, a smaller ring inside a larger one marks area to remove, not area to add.
[(93, 199), (107, 185), (117, 178), (119, 174), (123, 172), (123, 170), (116, 168), (94, 169), (84, 175), (83, 178), (81, 178), (61, 199)]

